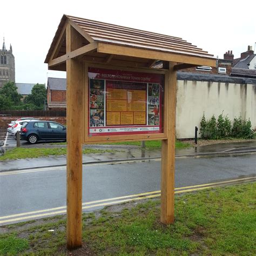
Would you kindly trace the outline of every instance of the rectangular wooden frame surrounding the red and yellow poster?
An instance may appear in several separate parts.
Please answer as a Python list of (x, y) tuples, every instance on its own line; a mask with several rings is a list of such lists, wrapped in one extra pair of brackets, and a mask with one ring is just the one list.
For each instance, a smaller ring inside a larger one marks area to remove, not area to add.
[[(167, 118), (168, 118), (168, 82), (169, 82), (169, 70), (165, 69), (148, 69), (148, 68), (127, 68), (123, 66), (114, 65), (104, 65), (96, 64), (90, 62), (83, 63), (84, 69), (84, 143), (83, 144), (94, 144), (94, 143), (107, 143), (107, 142), (127, 142), (134, 140), (164, 140), (167, 139)], [(122, 70), (122, 71), (132, 71), (132, 72), (142, 72), (142, 73), (152, 73), (164, 75), (164, 107), (163, 107), (163, 133), (150, 133), (150, 134), (122, 134), (122, 135), (109, 135), (109, 136), (92, 136), (88, 134), (88, 120), (89, 120), (89, 78), (88, 69), (89, 68), (99, 68), (99, 69), (109, 69), (109, 70)]]

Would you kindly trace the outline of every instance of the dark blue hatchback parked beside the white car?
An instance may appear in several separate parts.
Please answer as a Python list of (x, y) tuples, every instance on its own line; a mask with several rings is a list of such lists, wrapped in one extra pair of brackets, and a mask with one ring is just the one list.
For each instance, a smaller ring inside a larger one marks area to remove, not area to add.
[(31, 121), (23, 123), (21, 139), (30, 144), (39, 140), (66, 140), (66, 127), (57, 122)]

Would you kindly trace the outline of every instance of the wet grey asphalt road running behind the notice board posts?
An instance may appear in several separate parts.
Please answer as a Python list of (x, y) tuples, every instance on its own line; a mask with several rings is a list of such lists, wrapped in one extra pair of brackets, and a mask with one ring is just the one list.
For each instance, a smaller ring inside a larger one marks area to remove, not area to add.
[[(177, 159), (175, 187), (256, 176), (255, 160), (253, 153)], [(0, 224), (8, 215), (66, 205), (65, 167), (2, 172), (0, 176)], [(84, 203), (159, 190), (159, 160), (83, 166)], [(88, 207), (87, 211), (96, 208), (99, 207)]]

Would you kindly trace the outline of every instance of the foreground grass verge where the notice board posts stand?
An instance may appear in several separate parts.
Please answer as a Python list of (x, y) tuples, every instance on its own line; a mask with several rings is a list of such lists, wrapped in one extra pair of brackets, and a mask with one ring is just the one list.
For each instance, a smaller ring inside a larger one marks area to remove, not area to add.
[[(83, 247), (75, 255), (253, 255), (256, 184), (214, 188), (176, 197), (173, 225), (160, 223), (159, 200), (109, 206), (83, 214)], [(65, 219), (4, 227), (7, 239), (25, 239), (24, 255), (66, 255)], [(49, 230), (53, 230), (50, 232)], [(29, 246), (26, 247), (26, 242)], [(16, 244), (16, 243), (15, 243)], [(19, 246), (16, 246), (19, 247)], [(15, 252), (15, 251), (13, 251)], [(21, 251), (19, 251), (21, 253)], [(13, 255), (13, 254), (12, 254)]]

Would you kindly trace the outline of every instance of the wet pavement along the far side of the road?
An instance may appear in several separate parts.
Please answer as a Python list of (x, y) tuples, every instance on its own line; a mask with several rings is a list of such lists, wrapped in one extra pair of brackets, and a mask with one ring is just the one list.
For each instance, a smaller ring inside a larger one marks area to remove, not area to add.
[[(132, 160), (137, 158), (160, 158), (160, 150), (140, 150), (137, 146), (127, 145), (87, 145), (94, 149), (114, 149), (117, 152), (84, 154), (83, 163), (99, 163), (102, 161)], [(182, 156), (201, 156), (201, 155), (218, 155), (239, 152), (256, 151), (256, 141), (239, 142), (239, 143), (219, 143), (200, 147), (190, 147), (186, 149), (176, 149), (176, 157)], [(66, 165), (66, 156), (53, 156), (44, 158), (29, 158), (17, 160), (0, 161), (0, 172), (10, 170), (29, 169), (36, 167), (49, 167)]]

